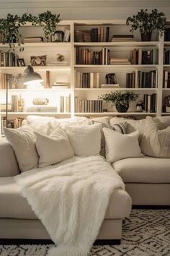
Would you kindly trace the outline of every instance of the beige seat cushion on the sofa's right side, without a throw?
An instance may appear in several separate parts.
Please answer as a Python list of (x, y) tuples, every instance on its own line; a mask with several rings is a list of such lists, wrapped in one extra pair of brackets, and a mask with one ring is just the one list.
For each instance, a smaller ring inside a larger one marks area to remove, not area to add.
[(170, 158), (126, 158), (112, 166), (125, 183), (170, 183)]

